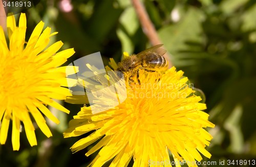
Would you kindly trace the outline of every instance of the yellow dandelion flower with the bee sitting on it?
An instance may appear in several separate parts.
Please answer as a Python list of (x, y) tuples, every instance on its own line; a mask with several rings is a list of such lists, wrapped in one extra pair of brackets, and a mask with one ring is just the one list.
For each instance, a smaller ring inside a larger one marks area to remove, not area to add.
[[(110, 64), (114, 69), (117, 67), (113, 59)], [(97, 71), (95, 67), (88, 67)], [(106, 69), (111, 70), (109, 67)], [(183, 160), (192, 162), (187, 163), (188, 166), (197, 166), (194, 162), (202, 160), (200, 153), (210, 158), (211, 154), (205, 147), (209, 146), (212, 136), (203, 128), (215, 125), (202, 111), (206, 105), (199, 103), (201, 98), (195, 96), (194, 90), (186, 84), (188, 79), (182, 78), (183, 72), (172, 67), (162, 75), (144, 70), (139, 70), (139, 74), (140, 84), (125, 82), (127, 98), (123, 103), (93, 114), (93, 107), (111, 104), (111, 94), (114, 93), (110, 89), (99, 94), (95, 91), (95, 104), (82, 107), (71, 120), (70, 128), (63, 133), (64, 137), (73, 137), (95, 130), (88, 137), (78, 140), (71, 147), (72, 152), (100, 139), (86, 153), (89, 156), (102, 148), (89, 166), (102, 166), (112, 158), (112, 167), (127, 166), (131, 158), (134, 167), (155, 166), (158, 163), (160, 165), (157, 166), (172, 166), (168, 150), (172, 152), (176, 166), (180, 166), (179, 161)], [(110, 76), (97, 77), (103, 87), (109, 86), (104, 80)], [(93, 89), (90, 83), (84, 83)]]

